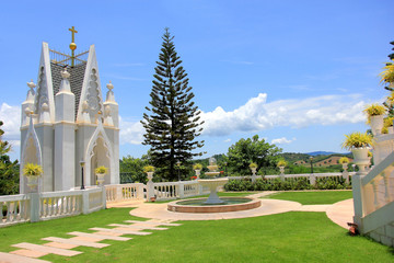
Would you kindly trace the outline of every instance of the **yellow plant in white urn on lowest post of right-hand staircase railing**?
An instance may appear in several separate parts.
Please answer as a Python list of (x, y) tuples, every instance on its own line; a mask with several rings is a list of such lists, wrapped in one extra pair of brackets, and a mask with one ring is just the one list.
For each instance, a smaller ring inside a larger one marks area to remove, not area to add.
[(343, 148), (350, 150), (356, 164), (368, 164), (368, 147), (372, 145), (372, 136), (367, 133), (352, 133), (345, 135)]

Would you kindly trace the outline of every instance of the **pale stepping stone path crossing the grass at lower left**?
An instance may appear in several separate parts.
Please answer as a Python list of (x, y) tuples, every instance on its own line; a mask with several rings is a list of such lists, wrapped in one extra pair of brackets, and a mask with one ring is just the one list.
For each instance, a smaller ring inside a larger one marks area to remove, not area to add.
[(115, 228), (90, 228), (89, 230), (94, 230), (94, 233), (88, 232), (68, 232), (67, 235), (74, 236), (69, 239), (57, 238), (57, 237), (47, 237), (42, 240), (50, 241), (45, 244), (34, 244), (22, 242), (18, 244), (12, 244), (12, 247), (20, 248), (20, 250), (11, 251), (9, 253), (0, 252), (0, 262), (1, 263), (47, 263), (49, 261), (39, 260), (37, 258), (44, 256), (46, 254), (57, 254), (62, 256), (73, 256), (81, 254), (83, 252), (71, 250), (77, 247), (91, 247), (91, 248), (105, 248), (109, 244), (99, 243), (102, 240), (117, 240), (117, 241), (128, 241), (132, 238), (121, 237), (123, 235), (138, 235), (147, 236), (152, 232), (140, 232), (141, 230), (166, 230), (164, 227), (175, 227), (181, 226), (181, 224), (174, 224), (169, 221), (159, 221), (159, 220), (149, 220), (149, 221), (138, 221), (138, 220), (126, 220), (126, 224), (109, 224), (109, 227)]

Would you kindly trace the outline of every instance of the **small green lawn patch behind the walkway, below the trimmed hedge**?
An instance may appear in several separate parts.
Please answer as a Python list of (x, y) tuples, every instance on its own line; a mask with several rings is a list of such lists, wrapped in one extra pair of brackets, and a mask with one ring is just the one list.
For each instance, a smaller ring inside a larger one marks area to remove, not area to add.
[(280, 192), (264, 198), (294, 201), (302, 205), (328, 205), (352, 198), (351, 191)]

